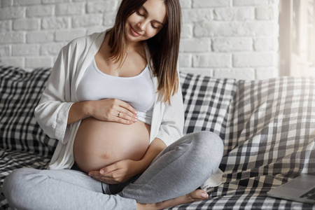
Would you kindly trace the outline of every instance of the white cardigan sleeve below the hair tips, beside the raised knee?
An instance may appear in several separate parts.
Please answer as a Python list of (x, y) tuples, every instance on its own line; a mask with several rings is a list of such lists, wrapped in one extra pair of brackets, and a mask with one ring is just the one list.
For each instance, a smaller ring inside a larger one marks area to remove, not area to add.
[(171, 105), (165, 103), (162, 113), (162, 122), (156, 138), (161, 139), (167, 146), (183, 137), (184, 109), (181, 85), (171, 97)]

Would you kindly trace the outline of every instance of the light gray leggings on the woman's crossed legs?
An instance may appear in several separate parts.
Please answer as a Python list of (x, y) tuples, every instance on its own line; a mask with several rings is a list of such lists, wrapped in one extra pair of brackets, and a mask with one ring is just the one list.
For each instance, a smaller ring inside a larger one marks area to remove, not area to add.
[(218, 169), (223, 142), (211, 132), (187, 134), (165, 148), (146, 172), (117, 195), (106, 183), (71, 169), (17, 169), (3, 183), (13, 209), (136, 209), (186, 195)]

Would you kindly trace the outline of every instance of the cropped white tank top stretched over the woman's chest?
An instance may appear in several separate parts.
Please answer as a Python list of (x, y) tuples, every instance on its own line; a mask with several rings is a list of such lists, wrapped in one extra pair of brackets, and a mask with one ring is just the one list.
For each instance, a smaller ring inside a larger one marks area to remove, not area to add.
[(148, 65), (137, 76), (118, 77), (100, 71), (93, 59), (78, 84), (76, 95), (79, 102), (120, 99), (138, 111), (138, 120), (151, 125), (155, 90)]

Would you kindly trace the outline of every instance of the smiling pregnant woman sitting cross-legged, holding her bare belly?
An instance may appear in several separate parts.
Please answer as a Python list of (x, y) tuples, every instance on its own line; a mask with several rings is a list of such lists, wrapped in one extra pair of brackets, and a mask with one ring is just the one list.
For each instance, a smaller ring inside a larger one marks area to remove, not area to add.
[(179, 0), (123, 0), (113, 28), (59, 52), (39, 125), (59, 142), (48, 170), (3, 183), (13, 209), (163, 209), (208, 195), (222, 140), (183, 136)]

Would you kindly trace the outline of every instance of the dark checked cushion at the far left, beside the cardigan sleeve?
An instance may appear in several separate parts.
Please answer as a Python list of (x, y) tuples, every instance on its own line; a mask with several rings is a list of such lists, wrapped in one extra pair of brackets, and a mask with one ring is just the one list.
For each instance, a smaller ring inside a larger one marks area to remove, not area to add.
[(43, 133), (34, 118), (34, 109), (50, 75), (50, 69), (28, 72), (0, 66), (0, 147), (51, 155), (55, 139)]

